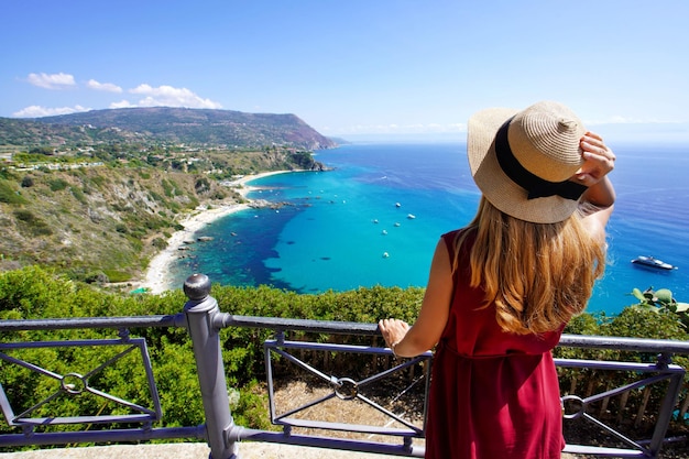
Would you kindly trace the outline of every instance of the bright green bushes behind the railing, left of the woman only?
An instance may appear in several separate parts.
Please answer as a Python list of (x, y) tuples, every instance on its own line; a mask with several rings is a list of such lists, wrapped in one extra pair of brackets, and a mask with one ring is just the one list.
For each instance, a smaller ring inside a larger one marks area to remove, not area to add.
[[(423, 297), (420, 288), (361, 288), (346, 293), (297, 295), (275, 288), (240, 288), (214, 286), (211, 294), (223, 312), (236, 315), (300, 317), (306, 319), (372, 321), (394, 315), (412, 320)], [(182, 313), (186, 297), (181, 291), (162, 296), (106, 293), (84, 283), (75, 283), (54, 271), (37, 266), (0, 273), (0, 320), (62, 317), (172, 315)], [(3, 341), (112, 339), (117, 330), (57, 330), (0, 334)], [(132, 337), (146, 339), (156, 384), (164, 411), (162, 426), (193, 426), (203, 423), (196, 364), (192, 342), (184, 328), (132, 329)], [(295, 334), (291, 339), (299, 338)], [(236, 420), (256, 428), (270, 428), (265, 391), (256, 381), (265, 381), (263, 341), (269, 330), (229, 328), (221, 332), (228, 384), (239, 390), (233, 406)], [(311, 337), (311, 339), (322, 339)], [(369, 338), (369, 342), (370, 342)], [(14, 357), (40, 363), (59, 374), (85, 374), (114, 352), (112, 348), (45, 348), (17, 351)], [(99, 390), (146, 405), (150, 400), (141, 359), (128, 356), (92, 381)], [(0, 362), (2, 385), (18, 406), (35, 403), (56, 391), (55, 381), (32, 374), (25, 369)], [(63, 400), (64, 402), (64, 400)], [(88, 397), (74, 397), (69, 403), (47, 404), (34, 415), (98, 413), (118, 407), (98, 405)], [(101, 401), (102, 403), (102, 401)], [(97, 426), (94, 426), (97, 428)], [(7, 426), (0, 433), (12, 431)]]

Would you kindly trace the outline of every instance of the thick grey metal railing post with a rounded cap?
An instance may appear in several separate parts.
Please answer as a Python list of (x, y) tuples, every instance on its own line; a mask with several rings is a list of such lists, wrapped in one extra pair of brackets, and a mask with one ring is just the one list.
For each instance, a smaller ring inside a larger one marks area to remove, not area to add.
[(236, 459), (237, 444), (229, 439), (234, 426), (230, 413), (222, 350), (212, 318), (220, 313), (218, 302), (210, 296), (210, 280), (204, 274), (193, 274), (184, 283), (188, 302), (184, 306), (194, 357), (198, 370), (206, 433), (211, 459)]

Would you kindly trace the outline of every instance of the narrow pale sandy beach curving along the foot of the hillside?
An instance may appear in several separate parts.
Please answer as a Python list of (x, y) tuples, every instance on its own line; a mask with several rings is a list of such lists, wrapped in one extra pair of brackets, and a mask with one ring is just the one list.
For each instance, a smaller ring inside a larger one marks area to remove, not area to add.
[(255, 187), (248, 185), (249, 182), (289, 172), (295, 171), (272, 171), (245, 175), (232, 182), (231, 186), (237, 187), (237, 192), (244, 199), (247, 199), (248, 203), (219, 205), (214, 208), (200, 206), (193, 212), (185, 215), (184, 219), (179, 221), (184, 229), (173, 233), (173, 236), (167, 240), (167, 247), (151, 259), (151, 262), (143, 274), (143, 280), (138, 283), (139, 288), (144, 288), (145, 292), (155, 295), (173, 288), (169, 280), (169, 265), (176, 260), (179, 245), (182, 245), (184, 241), (193, 239), (196, 231), (204, 228), (206, 225), (209, 225), (210, 222), (228, 215), (248, 209), (252, 201), (247, 198), (247, 195), (255, 189)]

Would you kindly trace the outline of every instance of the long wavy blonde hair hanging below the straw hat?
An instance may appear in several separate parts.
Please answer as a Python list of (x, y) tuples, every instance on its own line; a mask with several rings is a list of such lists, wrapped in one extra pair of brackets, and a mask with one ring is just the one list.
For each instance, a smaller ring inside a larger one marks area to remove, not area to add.
[(593, 283), (603, 274), (605, 247), (575, 212), (557, 223), (532, 223), (497, 210), (484, 197), (467, 231), (455, 241), (455, 266), (467, 236), (472, 287), (495, 304), (504, 331), (520, 335), (557, 330), (583, 312)]

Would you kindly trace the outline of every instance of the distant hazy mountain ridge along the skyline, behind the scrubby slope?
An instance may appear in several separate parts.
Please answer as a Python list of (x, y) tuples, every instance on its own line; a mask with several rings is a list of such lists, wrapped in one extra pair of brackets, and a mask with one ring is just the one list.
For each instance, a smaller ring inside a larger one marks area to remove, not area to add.
[(59, 146), (173, 143), (222, 149), (291, 146), (322, 150), (336, 142), (295, 114), (186, 108), (125, 108), (35, 119), (0, 118), (0, 145)]

